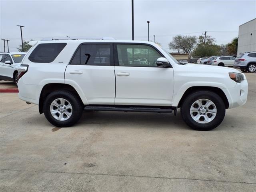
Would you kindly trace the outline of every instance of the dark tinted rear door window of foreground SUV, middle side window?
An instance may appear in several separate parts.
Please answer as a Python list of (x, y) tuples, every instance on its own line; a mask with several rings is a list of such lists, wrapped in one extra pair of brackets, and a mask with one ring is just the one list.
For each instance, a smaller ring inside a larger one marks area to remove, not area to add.
[(110, 66), (110, 44), (82, 44), (71, 64)]

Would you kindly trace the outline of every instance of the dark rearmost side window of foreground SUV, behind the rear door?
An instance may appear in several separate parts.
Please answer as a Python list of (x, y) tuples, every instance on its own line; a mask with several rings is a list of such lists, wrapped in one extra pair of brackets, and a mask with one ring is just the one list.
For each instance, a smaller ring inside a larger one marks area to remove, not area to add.
[(28, 59), (34, 63), (50, 63), (60, 54), (66, 43), (44, 43), (39, 44)]

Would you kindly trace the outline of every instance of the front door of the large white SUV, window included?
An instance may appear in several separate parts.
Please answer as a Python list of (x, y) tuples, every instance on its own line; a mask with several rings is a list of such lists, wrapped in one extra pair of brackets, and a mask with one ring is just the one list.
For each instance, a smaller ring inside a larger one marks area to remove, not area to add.
[(115, 105), (170, 106), (173, 69), (156, 65), (163, 55), (148, 44), (116, 44), (114, 48)]

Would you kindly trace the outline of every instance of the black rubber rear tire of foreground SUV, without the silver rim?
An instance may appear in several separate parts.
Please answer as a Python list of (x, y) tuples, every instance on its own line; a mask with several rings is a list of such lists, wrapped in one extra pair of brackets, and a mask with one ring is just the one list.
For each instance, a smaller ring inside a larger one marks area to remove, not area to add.
[[(58, 98), (68, 100), (68, 102), (72, 106), (72, 114), (70, 118), (68, 118), (67, 120), (57, 120), (52, 116), (50, 112), (51, 103)], [(78, 122), (78, 120), (81, 118), (83, 108), (84, 105), (82, 104), (78, 96), (66, 90), (57, 90), (46, 97), (44, 101), (44, 116), (51, 124), (53, 124), (56, 127), (70, 127), (74, 125), (76, 122)]]

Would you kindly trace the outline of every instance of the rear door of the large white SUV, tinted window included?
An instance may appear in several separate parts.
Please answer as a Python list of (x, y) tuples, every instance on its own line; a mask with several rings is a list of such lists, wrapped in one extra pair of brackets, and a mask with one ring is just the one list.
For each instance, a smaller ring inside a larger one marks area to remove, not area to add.
[(82, 89), (89, 104), (114, 104), (115, 74), (113, 44), (81, 44), (65, 72), (65, 82)]

